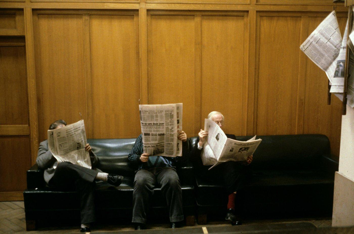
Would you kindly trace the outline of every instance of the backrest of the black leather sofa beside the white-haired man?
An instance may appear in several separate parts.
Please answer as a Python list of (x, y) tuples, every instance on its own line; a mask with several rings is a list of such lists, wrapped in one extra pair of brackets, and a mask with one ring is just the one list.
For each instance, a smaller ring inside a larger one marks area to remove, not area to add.
[[(236, 136), (247, 141), (253, 136)], [(322, 155), (330, 155), (330, 142), (325, 135), (268, 135), (253, 154), (252, 169), (311, 169), (319, 166)], [(193, 147), (196, 137), (191, 138)]]

